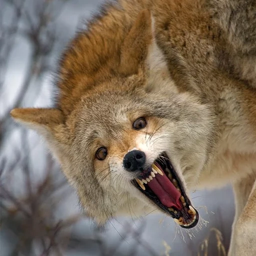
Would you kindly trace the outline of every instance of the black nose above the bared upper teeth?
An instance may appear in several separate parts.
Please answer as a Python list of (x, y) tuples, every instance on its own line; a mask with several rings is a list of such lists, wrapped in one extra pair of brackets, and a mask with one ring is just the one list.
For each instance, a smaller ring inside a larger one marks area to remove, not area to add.
[(128, 171), (143, 170), (146, 161), (146, 155), (139, 150), (132, 150), (123, 157), (123, 167)]

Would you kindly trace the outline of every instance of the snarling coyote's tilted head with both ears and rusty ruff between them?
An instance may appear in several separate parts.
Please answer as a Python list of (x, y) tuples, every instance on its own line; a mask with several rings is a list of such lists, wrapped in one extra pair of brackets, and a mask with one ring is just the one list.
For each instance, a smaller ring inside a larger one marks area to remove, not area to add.
[(170, 77), (149, 11), (109, 18), (92, 23), (66, 51), (56, 108), (11, 115), (45, 138), (98, 223), (159, 209), (192, 227), (198, 213), (186, 189), (207, 161), (210, 110)]

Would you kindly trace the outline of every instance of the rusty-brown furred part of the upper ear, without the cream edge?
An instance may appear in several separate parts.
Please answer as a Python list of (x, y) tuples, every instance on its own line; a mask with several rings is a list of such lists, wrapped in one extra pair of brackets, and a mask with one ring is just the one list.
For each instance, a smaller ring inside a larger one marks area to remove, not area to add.
[(152, 41), (151, 14), (142, 10), (124, 39), (120, 55), (120, 72), (130, 75), (138, 72)]

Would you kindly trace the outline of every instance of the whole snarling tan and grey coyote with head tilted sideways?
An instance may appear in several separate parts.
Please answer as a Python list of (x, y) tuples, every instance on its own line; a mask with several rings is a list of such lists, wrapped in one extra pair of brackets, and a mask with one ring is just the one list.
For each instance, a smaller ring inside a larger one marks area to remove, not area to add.
[(255, 13), (254, 0), (108, 2), (64, 51), (54, 105), (10, 114), (98, 224), (130, 205), (191, 228), (189, 190), (231, 183), (228, 255), (256, 255)]

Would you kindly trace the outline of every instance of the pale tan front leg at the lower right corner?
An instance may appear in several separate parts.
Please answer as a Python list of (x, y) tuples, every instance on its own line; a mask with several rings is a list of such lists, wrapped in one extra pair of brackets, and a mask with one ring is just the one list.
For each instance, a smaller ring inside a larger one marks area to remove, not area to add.
[(235, 217), (228, 256), (256, 255), (256, 181), (247, 176), (233, 184)]

